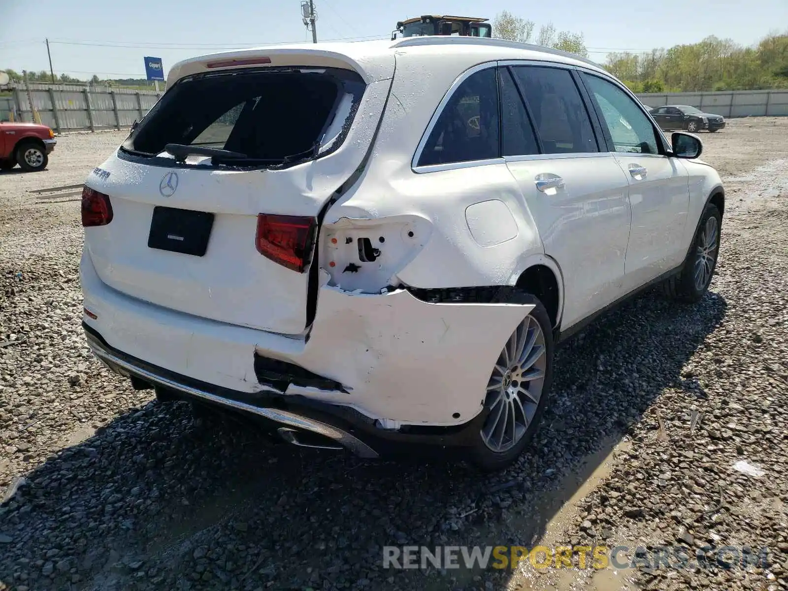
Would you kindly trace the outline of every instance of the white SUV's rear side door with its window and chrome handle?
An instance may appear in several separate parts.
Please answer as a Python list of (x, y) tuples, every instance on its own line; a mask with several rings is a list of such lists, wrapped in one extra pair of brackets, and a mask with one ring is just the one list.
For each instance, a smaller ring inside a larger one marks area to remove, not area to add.
[[(545, 254), (561, 269), (561, 326), (567, 329), (622, 294), (630, 232), (626, 177), (611, 154), (599, 151), (571, 72), (537, 65), (513, 65), (511, 72), (543, 153), (508, 155), (507, 166), (536, 221)], [(550, 179), (556, 186), (540, 188)]]

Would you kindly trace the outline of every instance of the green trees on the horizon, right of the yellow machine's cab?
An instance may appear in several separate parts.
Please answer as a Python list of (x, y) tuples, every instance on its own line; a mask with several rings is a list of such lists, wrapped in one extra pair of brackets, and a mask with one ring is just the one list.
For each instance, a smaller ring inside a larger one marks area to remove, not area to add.
[[(504, 10), (492, 35), (588, 56), (583, 34), (542, 25)], [(755, 46), (708, 36), (698, 43), (636, 53), (611, 53), (603, 67), (634, 92), (745, 91), (788, 88), (788, 31), (771, 33)]]

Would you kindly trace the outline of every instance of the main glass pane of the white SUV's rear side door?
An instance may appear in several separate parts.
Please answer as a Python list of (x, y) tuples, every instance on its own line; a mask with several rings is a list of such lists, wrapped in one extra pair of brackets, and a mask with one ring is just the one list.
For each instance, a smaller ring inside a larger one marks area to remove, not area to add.
[(567, 69), (512, 67), (545, 154), (598, 152), (589, 113)]

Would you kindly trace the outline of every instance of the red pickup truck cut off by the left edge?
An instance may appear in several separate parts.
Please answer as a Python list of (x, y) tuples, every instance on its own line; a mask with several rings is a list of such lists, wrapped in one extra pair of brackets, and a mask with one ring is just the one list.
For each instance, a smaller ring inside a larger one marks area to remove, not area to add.
[(43, 170), (57, 140), (54, 132), (38, 123), (0, 122), (0, 170), (17, 164), (29, 172)]

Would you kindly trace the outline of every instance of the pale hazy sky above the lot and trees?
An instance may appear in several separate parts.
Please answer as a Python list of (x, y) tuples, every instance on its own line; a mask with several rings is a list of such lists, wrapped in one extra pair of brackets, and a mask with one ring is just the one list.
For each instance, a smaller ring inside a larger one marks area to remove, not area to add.
[[(180, 59), (238, 46), (307, 39), (299, 0), (0, 0), (0, 69), (49, 69), (80, 78), (144, 77), (143, 57), (165, 71)], [(501, 10), (582, 32), (590, 57), (695, 43), (707, 35), (750, 45), (788, 28), (788, 0), (315, 0), (318, 39), (385, 38), (421, 14), (489, 17)], [(76, 44), (80, 43), (80, 44)]]

